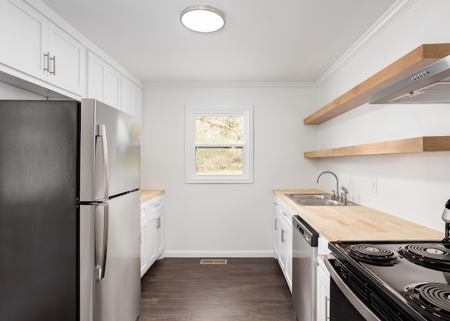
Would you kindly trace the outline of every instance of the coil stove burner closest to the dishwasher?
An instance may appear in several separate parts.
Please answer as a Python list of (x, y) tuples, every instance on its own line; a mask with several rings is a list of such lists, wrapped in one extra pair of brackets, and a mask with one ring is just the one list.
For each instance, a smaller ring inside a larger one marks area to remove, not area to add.
[(392, 265), (392, 261), (397, 258), (397, 254), (394, 251), (374, 244), (354, 244), (345, 250), (357, 261), (374, 265)]

